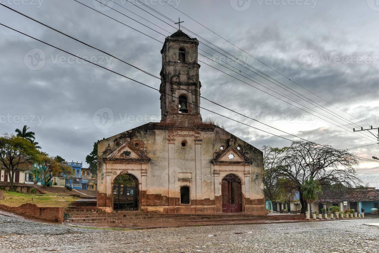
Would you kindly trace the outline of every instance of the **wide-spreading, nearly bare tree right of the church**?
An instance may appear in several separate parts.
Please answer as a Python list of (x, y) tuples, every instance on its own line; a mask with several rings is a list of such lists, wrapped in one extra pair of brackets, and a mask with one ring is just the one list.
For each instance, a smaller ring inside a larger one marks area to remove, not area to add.
[(312, 142), (295, 141), (277, 157), (274, 167), (276, 177), (287, 178), (299, 192), (301, 212), (305, 213), (307, 201), (303, 197), (302, 185), (310, 178), (321, 186), (352, 187), (362, 184), (357, 176), (358, 160), (348, 150)]

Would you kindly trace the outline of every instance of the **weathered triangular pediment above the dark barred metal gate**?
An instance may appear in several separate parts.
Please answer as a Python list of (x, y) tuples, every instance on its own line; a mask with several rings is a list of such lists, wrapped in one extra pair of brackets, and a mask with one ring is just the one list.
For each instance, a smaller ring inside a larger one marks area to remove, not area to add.
[(125, 141), (116, 150), (104, 157), (108, 161), (122, 161), (123, 163), (147, 163), (150, 158), (138, 148), (135, 148), (132, 143)]

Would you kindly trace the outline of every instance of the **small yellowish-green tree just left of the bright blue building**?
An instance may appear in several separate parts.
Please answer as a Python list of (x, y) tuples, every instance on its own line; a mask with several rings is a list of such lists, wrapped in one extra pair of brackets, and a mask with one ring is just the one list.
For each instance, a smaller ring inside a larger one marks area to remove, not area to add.
[(72, 176), (73, 174), (71, 167), (66, 166), (65, 160), (61, 156), (53, 157), (46, 153), (41, 153), (39, 162), (43, 164), (42, 178), (45, 188), (53, 176), (61, 176), (61, 174)]

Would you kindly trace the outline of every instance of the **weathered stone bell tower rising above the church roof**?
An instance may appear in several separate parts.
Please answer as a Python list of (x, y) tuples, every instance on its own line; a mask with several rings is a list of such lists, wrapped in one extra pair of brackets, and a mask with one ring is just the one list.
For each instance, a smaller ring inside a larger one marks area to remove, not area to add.
[(190, 38), (181, 30), (164, 41), (160, 73), (161, 123), (176, 126), (202, 123), (198, 46), (196, 38)]

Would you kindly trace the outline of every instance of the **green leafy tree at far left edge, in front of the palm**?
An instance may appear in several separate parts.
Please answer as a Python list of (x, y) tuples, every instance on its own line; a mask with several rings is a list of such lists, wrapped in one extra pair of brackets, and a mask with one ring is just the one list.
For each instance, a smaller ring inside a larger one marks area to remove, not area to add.
[(39, 158), (39, 151), (26, 138), (13, 134), (4, 134), (0, 137), (0, 162), (8, 172), (11, 185), (14, 183), (14, 174), (17, 170), (31, 167), (33, 161)]

